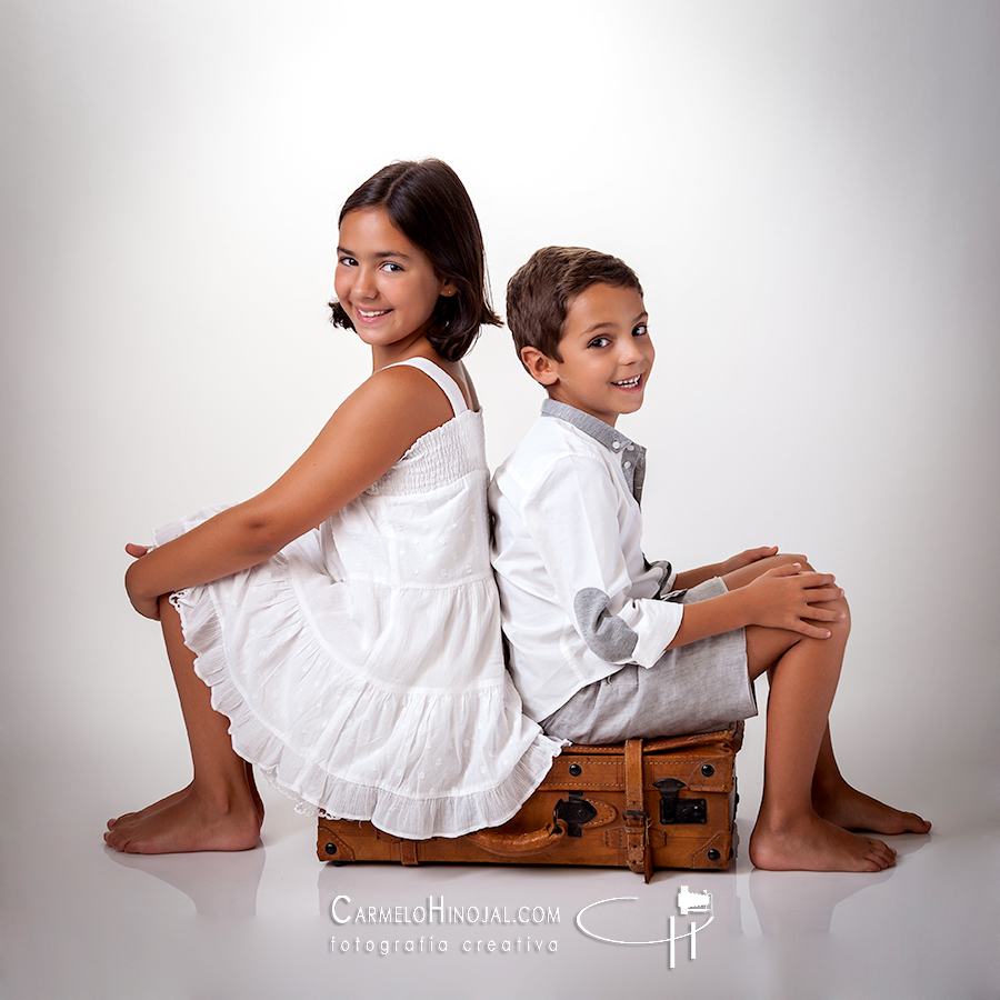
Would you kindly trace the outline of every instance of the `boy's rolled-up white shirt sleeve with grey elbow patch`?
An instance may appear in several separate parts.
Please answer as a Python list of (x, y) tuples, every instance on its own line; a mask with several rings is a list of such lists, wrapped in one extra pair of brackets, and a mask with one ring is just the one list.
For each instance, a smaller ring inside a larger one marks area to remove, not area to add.
[[(634, 503), (588, 454), (566, 454), (552, 462), (523, 498), (523, 524), (548, 570), (554, 600), (596, 656), (609, 663), (652, 667), (680, 628), (683, 606), (659, 600), (661, 567), (631, 557), (621, 529)], [(638, 504), (637, 504), (638, 508)], [(638, 539), (637, 539), (638, 541)], [(638, 590), (648, 593), (637, 596)]]

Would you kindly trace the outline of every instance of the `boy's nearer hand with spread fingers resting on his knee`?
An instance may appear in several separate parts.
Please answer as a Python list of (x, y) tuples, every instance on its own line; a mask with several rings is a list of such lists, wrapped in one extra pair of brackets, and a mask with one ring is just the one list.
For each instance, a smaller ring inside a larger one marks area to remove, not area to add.
[(817, 622), (841, 621), (840, 608), (821, 607), (843, 597), (831, 573), (801, 572), (798, 562), (778, 566), (740, 588), (749, 601), (751, 624), (787, 629), (811, 639), (829, 639), (829, 629)]

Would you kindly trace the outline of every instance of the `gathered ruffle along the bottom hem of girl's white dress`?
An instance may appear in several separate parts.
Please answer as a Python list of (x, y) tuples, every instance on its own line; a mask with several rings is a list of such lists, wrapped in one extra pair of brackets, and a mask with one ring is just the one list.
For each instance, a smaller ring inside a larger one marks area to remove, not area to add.
[[(182, 530), (182, 522), (164, 526), (157, 532), (158, 543)], [(338, 778), (304, 758), (249, 709), (233, 682), (210, 590), (179, 591), (171, 602), (180, 614), (184, 644), (194, 653), (194, 671), (211, 689), (212, 708), (229, 719), (233, 750), (259, 768), (302, 814), (369, 820), (386, 833), (408, 840), (461, 837), (513, 817), (566, 746), (564, 740), (539, 731), (499, 784), (454, 794), (418, 799)]]

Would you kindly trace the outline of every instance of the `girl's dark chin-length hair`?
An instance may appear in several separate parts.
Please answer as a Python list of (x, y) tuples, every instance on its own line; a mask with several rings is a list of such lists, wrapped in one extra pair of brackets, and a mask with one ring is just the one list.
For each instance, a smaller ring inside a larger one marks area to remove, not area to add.
[[(392, 224), (430, 260), (439, 278), (458, 292), (439, 296), (427, 339), (446, 361), (458, 361), (479, 337), (486, 323), (500, 326), (490, 306), (486, 254), (479, 219), (458, 174), (441, 160), (403, 160), (370, 177), (340, 210), (337, 224), (348, 212), (383, 208)], [(353, 329), (343, 307), (330, 302), (330, 321)]]

